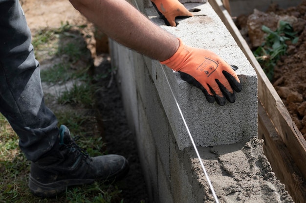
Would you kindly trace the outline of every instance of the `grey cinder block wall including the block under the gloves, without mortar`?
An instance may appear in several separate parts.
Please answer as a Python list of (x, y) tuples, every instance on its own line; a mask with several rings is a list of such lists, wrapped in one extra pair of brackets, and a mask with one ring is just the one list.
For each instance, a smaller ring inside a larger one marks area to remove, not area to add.
[(193, 18), (180, 19), (177, 27), (164, 26), (150, 2), (132, 3), (186, 44), (214, 51), (239, 67), (242, 92), (234, 104), (221, 107), (208, 103), (200, 90), (158, 61), (110, 40), (112, 66), (118, 69), (117, 81), (138, 143), (150, 200), (195, 203), (201, 186), (192, 180), (192, 162), (185, 150), (191, 143), (174, 96), (197, 146), (246, 142), (257, 137), (257, 76), (209, 3), (186, 3), (188, 9), (200, 11)]

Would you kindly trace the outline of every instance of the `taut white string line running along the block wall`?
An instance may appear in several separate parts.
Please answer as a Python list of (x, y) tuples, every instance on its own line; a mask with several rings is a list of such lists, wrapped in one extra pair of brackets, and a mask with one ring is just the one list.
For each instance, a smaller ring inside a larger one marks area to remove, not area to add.
[(208, 174), (207, 174), (207, 172), (206, 172), (206, 169), (205, 169), (205, 167), (204, 167), (204, 164), (203, 164), (203, 162), (202, 162), (202, 159), (201, 159), (201, 157), (200, 157), (200, 154), (198, 153), (198, 150), (197, 150), (197, 146), (196, 146), (196, 144), (195, 144), (195, 141), (194, 141), (193, 137), (191, 136), (191, 133), (190, 133), (190, 130), (189, 130), (189, 128), (188, 128), (188, 125), (187, 125), (187, 123), (186, 123), (186, 121), (185, 121), (184, 115), (183, 115), (183, 113), (182, 113), (182, 111), (181, 111), (181, 108), (180, 108), (179, 105), (178, 105), (178, 102), (177, 102), (176, 98), (175, 98), (175, 94), (174, 94), (174, 92), (173, 92), (173, 90), (172, 90), (172, 88), (171, 88), (171, 85), (170, 85), (170, 83), (169, 83), (168, 77), (167, 77), (167, 75), (166, 75), (166, 73), (165, 73), (165, 71), (164, 71), (163, 66), (162, 66), (161, 64), (160, 64), (160, 66), (161, 66), (161, 70), (163, 71), (163, 73), (164, 73), (164, 75), (165, 75), (165, 77), (166, 77), (167, 83), (168, 83), (168, 85), (169, 85), (169, 87), (170, 87), (170, 91), (171, 91), (171, 93), (172, 93), (172, 95), (173, 95), (173, 98), (174, 98), (174, 100), (175, 100), (177, 109), (178, 109), (178, 111), (179, 111), (179, 113), (180, 113), (180, 115), (181, 115), (181, 117), (182, 117), (182, 119), (183, 119), (184, 125), (185, 125), (185, 127), (186, 127), (186, 129), (187, 129), (189, 138), (190, 138), (190, 140), (191, 140), (191, 143), (192, 143), (192, 145), (193, 145), (193, 147), (194, 147), (194, 149), (195, 149), (195, 151), (196, 151), (196, 153), (197, 153), (197, 158), (198, 158), (198, 160), (199, 160), (199, 162), (200, 162), (200, 164), (201, 164), (201, 166), (202, 166), (202, 169), (203, 169), (203, 171), (204, 171), (204, 174), (205, 174), (206, 180), (207, 180), (207, 182), (208, 182), (208, 185), (209, 185), (209, 187), (210, 187), (210, 190), (211, 190), (212, 193), (213, 193), (213, 196), (214, 196), (214, 198), (215, 198), (216, 203), (219, 203), (219, 200), (218, 200), (218, 197), (217, 197), (217, 195), (216, 195), (216, 193), (215, 193), (214, 187), (213, 187), (213, 185), (212, 185), (212, 183), (211, 183), (211, 181), (210, 181), (210, 179), (209, 179), (209, 177), (208, 177)]

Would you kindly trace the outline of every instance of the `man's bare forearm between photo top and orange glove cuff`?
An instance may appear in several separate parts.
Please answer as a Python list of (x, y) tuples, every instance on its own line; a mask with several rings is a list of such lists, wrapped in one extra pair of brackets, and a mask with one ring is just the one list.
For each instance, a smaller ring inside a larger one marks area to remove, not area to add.
[(152, 23), (125, 0), (70, 0), (110, 38), (159, 61), (174, 55), (179, 40)]

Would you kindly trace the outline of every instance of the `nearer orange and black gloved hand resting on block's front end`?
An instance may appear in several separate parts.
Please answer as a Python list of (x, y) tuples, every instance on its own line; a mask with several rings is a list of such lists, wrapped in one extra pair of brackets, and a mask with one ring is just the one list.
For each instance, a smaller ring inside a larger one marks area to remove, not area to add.
[(179, 72), (183, 80), (201, 89), (208, 102), (216, 100), (223, 106), (227, 99), (234, 103), (235, 91), (241, 91), (240, 80), (234, 71), (237, 67), (230, 66), (211, 51), (186, 46), (181, 39), (179, 42), (175, 54), (160, 63)]

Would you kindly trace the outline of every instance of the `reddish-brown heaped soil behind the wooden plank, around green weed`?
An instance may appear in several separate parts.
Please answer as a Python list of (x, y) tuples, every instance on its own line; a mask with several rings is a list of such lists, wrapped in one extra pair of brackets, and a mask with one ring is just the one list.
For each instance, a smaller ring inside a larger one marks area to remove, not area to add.
[(275, 31), (280, 20), (292, 25), (299, 40), (296, 44), (287, 41), (286, 55), (274, 67), (271, 82), (292, 120), (306, 138), (306, 0), (287, 9), (271, 4), (267, 11), (255, 10), (249, 16), (238, 17), (236, 24), (250, 48), (255, 50), (264, 41), (262, 25)]

